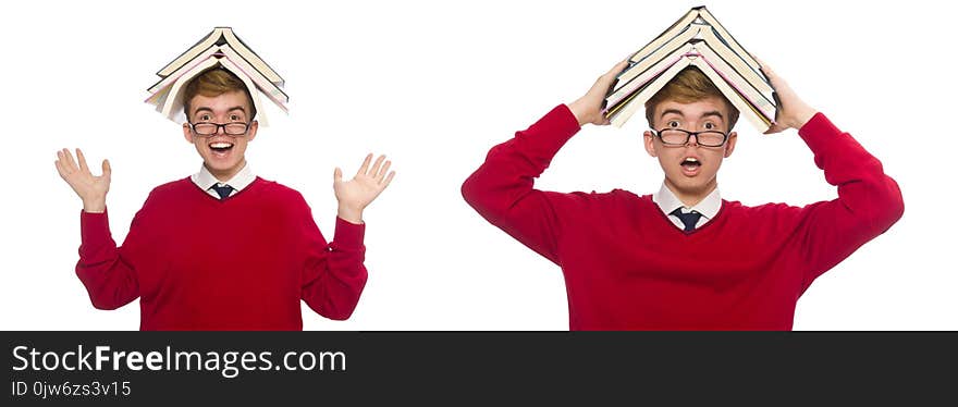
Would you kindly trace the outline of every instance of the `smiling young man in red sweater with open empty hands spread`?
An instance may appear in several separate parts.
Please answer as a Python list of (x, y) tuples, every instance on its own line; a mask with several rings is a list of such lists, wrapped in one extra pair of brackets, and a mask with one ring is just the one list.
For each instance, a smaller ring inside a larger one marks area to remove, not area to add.
[(349, 318), (366, 284), (363, 210), (390, 184), (390, 161), (367, 156), (351, 181), (335, 169), (335, 235), (327, 243), (296, 190), (256, 176), (245, 159), (258, 123), (249, 90), (222, 69), (184, 94), (183, 136), (198, 173), (153, 189), (121, 247), (110, 235), (102, 175), (79, 149), (58, 152), (60, 176), (83, 200), (76, 274), (96, 308), (140, 298), (142, 330), (302, 330), (299, 301)]

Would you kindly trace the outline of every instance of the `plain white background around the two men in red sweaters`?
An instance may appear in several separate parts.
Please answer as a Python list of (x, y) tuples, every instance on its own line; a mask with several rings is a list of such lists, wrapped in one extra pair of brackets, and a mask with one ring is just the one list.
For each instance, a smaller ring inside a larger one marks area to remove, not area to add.
[[(291, 111), (250, 145), (253, 169), (300, 190), (327, 237), (332, 172), (386, 153), (397, 176), (368, 208), (369, 283), (353, 318), (304, 306), (307, 330), (566, 330), (560, 269), (488, 224), (459, 195), (493, 145), (660, 34), (698, 2), (163, 1), (8, 4), (0, 16), (0, 329), (136, 330), (138, 301), (90, 306), (74, 274), (79, 199), (54, 152), (109, 158), (113, 236), (156, 185), (198, 170), (180, 127), (143, 102), (155, 73), (212, 27), (232, 26), (285, 79)], [(137, 3), (139, 4), (139, 3)], [(879, 157), (905, 217), (820, 278), (797, 330), (955, 330), (955, 5), (908, 1), (705, 3), (746, 49)], [(950, 8), (951, 10), (946, 10)], [(638, 118), (638, 119), (635, 119)], [(655, 190), (641, 114), (589, 126), (543, 189)], [(794, 131), (747, 121), (720, 174), (747, 205), (832, 199)], [(94, 164), (96, 165), (96, 164)], [(250, 214), (253, 215), (253, 214)], [(229, 242), (229, 236), (223, 236)], [(183, 236), (188, 244), (189, 236)]]

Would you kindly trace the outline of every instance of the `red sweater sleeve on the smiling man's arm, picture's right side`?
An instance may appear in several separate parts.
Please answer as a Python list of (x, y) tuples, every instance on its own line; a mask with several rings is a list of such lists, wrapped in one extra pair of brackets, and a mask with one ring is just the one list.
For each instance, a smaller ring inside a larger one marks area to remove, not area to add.
[(306, 250), (303, 300), (326, 318), (348, 319), (366, 287), (367, 271), (363, 264), (366, 259), (366, 246), (363, 245), (366, 224), (353, 224), (336, 218), (335, 235), (329, 244), (316, 226), (308, 206), (302, 224), (302, 242)]

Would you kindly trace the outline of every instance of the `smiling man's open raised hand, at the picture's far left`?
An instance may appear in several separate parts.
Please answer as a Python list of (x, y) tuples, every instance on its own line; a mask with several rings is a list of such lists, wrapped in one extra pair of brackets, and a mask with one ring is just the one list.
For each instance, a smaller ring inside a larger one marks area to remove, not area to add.
[[(77, 162), (79, 164), (77, 165)], [(57, 172), (70, 184), (73, 192), (83, 200), (83, 210), (89, 213), (101, 213), (107, 210), (107, 192), (110, 190), (110, 161), (103, 160), (103, 173), (94, 175), (86, 165), (83, 151), (76, 149), (76, 161), (70, 150), (57, 151)]]

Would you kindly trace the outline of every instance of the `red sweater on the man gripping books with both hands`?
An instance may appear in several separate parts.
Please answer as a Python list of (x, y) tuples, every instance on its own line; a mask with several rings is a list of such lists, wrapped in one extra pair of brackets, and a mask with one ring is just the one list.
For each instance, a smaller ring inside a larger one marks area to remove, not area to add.
[(723, 200), (686, 234), (649, 195), (533, 189), (578, 130), (556, 107), (493, 147), (463, 185), (490, 223), (562, 267), (570, 330), (790, 330), (812, 281), (904, 211), (879, 160), (816, 114), (799, 135), (838, 199), (803, 208)]

